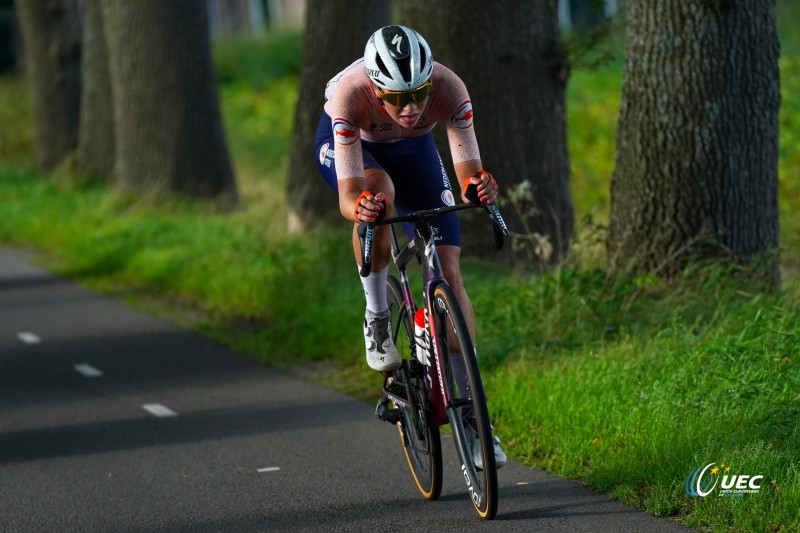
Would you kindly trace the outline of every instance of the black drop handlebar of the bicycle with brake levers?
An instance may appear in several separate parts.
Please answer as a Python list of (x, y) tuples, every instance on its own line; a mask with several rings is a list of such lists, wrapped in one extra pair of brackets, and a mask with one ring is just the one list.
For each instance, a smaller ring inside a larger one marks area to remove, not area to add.
[(395, 224), (398, 222), (416, 222), (426, 223), (427, 221), (436, 218), (445, 213), (452, 213), (454, 211), (461, 211), (463, 209), (471, 209), (475, 207), (483, 207), (489, 218), (492, 221), (492, 230), (494, 232), (494, 248), (500, 250), (503, 248), (505, 238), (508, 236), (508, 227), (500, 214), (496, 204), (481, 203), (477, 197), (477, 185), (470, 185), (467, 187), (465, 196), (471, 200), (470, 203), (462, 203), (453, 206), (437, 207), (435, 209), (426, 209), (423, 211), (414, 211), (407, 215), (400, 215), (392, 218), (386, 218), (380, 222), (362, 222), (358, 226), (358, 238), (361, 242), (361, 269), (359, 273), (362, 278), (369, 276), (372, 271), (372, 239), (375, 233), (375, 228), (378, 226), (385, 226), (388, 224)]

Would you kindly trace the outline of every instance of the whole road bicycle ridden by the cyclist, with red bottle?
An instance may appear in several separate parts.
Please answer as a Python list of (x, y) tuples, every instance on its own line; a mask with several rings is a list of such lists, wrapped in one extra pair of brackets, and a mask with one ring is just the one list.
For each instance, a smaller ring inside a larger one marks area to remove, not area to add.
[[(478, 515), (490, 520), (497, 513), (498, 495), (486, 393), (466, 321), (444, 279), (431, 224), (445, 213), (484, 207), (492, 220), (497, 249), (502, 248), (508, 229), (496, 205), (477, 200), (475, 185), (470, 186), (466, 196), (471, 203), (362, 223), (358, 229), (361, 275), (368, 275), (371, 269), (375, 227), (388, 225), (392, 260), (399, 277), (388, 278), (387, 303), (392, 315), (392, 340), (403, 361), (400, 369), (384, 373), (376, 415), (397, 426), (411, 475), (428, 500), (436, 500), (441, 494), (439, 428), (449, 423), (470, 499)], [(395, 224), (401, 222), (414, 223), (413, 237), (403, 246), (395, 231)], [(422, 268), (423, 279), (424, 303), (419, 316), (407, 274), (407, 266), (414, 258)], [(480, 449), (477, 465), (473, 446)]]

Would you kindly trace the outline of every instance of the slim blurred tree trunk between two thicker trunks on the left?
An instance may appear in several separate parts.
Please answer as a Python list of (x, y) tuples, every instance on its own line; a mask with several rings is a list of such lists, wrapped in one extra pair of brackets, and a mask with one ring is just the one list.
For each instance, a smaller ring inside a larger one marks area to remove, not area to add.
[(114, 104), (100, 0), (83, 0), (83, 46), (78, 168), (110, 178), (114, 170)]

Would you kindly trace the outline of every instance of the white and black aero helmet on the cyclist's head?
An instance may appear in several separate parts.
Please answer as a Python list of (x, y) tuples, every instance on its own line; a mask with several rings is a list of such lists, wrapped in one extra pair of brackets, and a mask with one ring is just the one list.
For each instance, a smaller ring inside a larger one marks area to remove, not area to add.
[(386, 26), (367, 41), (364, 67), (381, 89), (408, 91), (430, 79), (433, 57), (428, 43), (416, 31), (405, 26)]

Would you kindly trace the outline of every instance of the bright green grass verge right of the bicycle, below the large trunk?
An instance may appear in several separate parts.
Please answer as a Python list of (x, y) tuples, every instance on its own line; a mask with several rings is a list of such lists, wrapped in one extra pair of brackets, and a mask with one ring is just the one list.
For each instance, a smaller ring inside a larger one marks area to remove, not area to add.
[[(505, 332), (524, 340), (486, 385), (514, 454), (691, 526), (796, 530), (800, 302), (719, 274), (644, 292), (572, 272), (509, 284), (499, 298), (514, 306), (498, 314), (534, 324)], [(559, 305), (558, 328), (535, 309)], [(682, 482), (709, 462), (768, 483), (737, 500), (687, 496)]]

